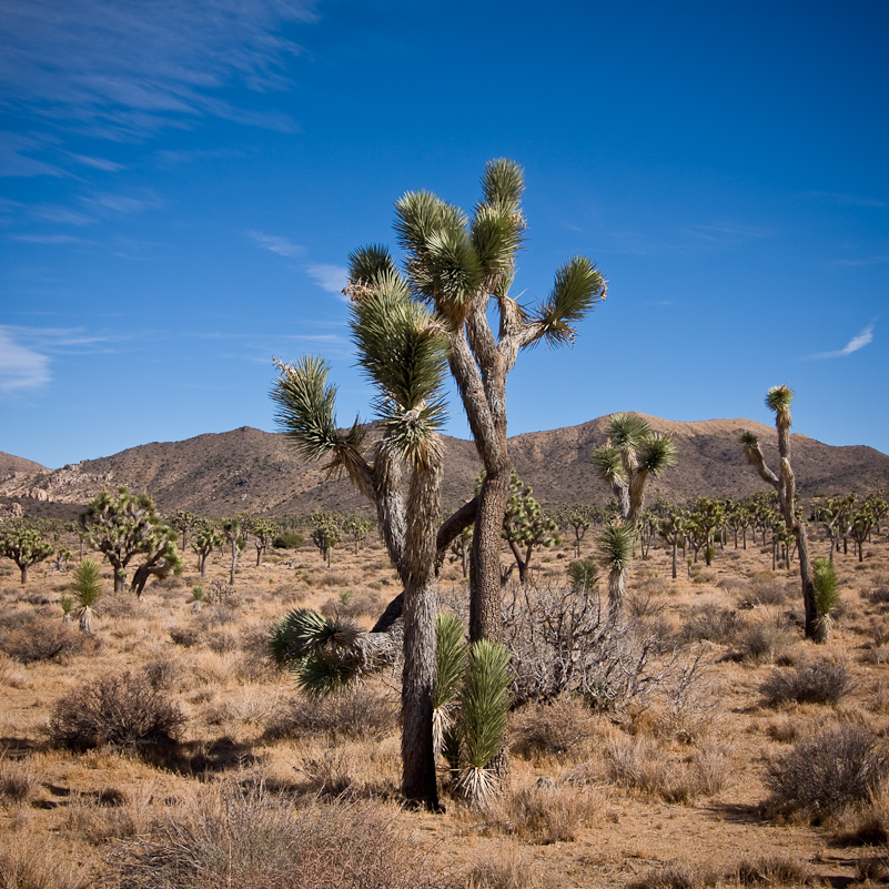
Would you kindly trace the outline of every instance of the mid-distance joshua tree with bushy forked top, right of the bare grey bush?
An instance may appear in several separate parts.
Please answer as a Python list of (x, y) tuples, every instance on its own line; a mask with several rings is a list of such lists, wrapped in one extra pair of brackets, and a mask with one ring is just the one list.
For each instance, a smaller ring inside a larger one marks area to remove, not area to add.
[(599, 555), (608, 568), (608, 607), (616, 619), (624, 606), (633, 547), (645, 511), (645, 483), (673, 466), (676, 444), (639, 416), (615, 414), (608, 438), (590, 461), (617, 498), (618, 514), (599, 541)]

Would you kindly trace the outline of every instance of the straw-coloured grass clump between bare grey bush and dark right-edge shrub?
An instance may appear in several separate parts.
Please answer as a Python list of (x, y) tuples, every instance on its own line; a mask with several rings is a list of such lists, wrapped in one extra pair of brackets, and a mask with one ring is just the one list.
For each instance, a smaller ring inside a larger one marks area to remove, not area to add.
[(651, 738), (617, 735), (605, 748), (608, 779), (618, 787), (666, 802), (715, 796), (725, 786), (728, 759), (717, 745), (687, 756), (668, 754)]

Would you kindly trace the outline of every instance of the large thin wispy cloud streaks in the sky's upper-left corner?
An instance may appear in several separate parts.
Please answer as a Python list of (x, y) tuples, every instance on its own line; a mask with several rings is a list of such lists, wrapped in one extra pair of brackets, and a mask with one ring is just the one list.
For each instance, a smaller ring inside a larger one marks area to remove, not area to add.
[(0, 0), (0, 103), (105, 139), (142, 138), (203, 115), (292, 130), (286, 115), (238, 108), (214, 91), (232, 82), (256, 92), (287, 88), (286, 62), (302, 50), (284, 26), (314, 20), (314, 7)]

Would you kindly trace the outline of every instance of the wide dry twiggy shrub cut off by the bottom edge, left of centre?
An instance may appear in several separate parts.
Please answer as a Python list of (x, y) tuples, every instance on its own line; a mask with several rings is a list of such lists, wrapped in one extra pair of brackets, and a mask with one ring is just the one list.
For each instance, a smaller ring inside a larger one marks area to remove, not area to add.
[(225, 782), (108, 861), (119, 889), (456, 889), (393, 808), (374, 801), (299, 809), (260, 785)]

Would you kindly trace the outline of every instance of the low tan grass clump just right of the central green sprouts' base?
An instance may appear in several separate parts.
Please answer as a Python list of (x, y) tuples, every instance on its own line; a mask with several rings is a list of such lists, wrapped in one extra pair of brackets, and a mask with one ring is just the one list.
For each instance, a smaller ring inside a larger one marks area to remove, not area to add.
[(573, 842), (584, 825), (602, 811), (602, 798), (588, 788), (541, 779), (533, 787), (499, 800), (496, 819), (502, 829), (538, 846)]

